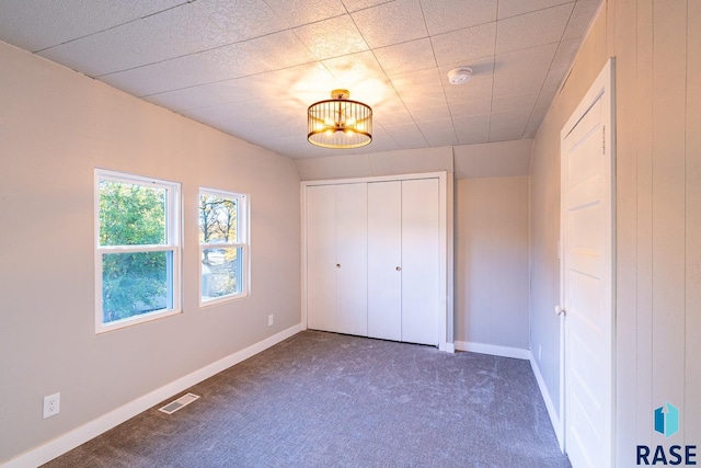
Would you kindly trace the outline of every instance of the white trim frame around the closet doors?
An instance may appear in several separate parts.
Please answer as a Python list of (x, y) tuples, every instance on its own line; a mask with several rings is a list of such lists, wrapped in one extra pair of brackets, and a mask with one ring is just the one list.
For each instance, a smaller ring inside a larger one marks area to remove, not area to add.
[(401, 175), (383, 175), (354, 179), (326, 179), (303, 181), (300, 183), (301, 215), (301, 327), (307, 330), (307, 187), (314, 185), (337, 185), (359, 182), (389, 182), (415, 179), (438, 179), (439, 196), (439, 236), (440, 270), (439, 287), (445, 292), (441, 297), (438, 321), (437, 343), (440, 351), (455, 352), (453, 338), (453, 180), (451, 172), (426, 172)]

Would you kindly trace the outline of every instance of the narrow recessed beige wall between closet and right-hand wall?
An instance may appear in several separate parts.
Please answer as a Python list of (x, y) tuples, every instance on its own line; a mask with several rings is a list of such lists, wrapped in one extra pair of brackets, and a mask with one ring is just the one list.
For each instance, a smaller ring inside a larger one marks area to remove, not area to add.
[(527, 175), (456, 181), (456, 341), (529, 349), (528, 192)]

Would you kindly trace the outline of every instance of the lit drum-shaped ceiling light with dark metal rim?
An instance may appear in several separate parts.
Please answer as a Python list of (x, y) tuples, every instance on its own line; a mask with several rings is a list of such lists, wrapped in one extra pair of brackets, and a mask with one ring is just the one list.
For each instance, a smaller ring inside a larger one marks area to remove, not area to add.
[(330, 100), (307, 110), (307, 140), (324, 148), (359, 148), (372, 141), (372, 110), (349, 101), (348, 90), (333, 90)]

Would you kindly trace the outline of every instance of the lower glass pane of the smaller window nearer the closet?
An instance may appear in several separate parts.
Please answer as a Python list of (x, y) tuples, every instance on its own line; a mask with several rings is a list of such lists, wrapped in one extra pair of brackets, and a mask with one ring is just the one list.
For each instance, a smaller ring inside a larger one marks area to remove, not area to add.
[(202, 250), (202, 300), (240, 294), (243, 248)]

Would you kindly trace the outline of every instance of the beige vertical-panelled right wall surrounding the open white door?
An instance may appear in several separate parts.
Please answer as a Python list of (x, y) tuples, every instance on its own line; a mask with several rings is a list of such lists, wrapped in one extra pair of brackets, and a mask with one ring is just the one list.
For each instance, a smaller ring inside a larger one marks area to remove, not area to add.
[[(617, 457), (635, 445), (701, 445), (701, 2), (604, 2), (535, 142), (531, 345), (558, 396), (560, 129), (609, 56), (617, 66)], [(545, 355), (545, 350), (548, 354)], [(681, 431), (653, 431), (654, 408)], [(555, 402), (555, 408), (556, 408)]]

